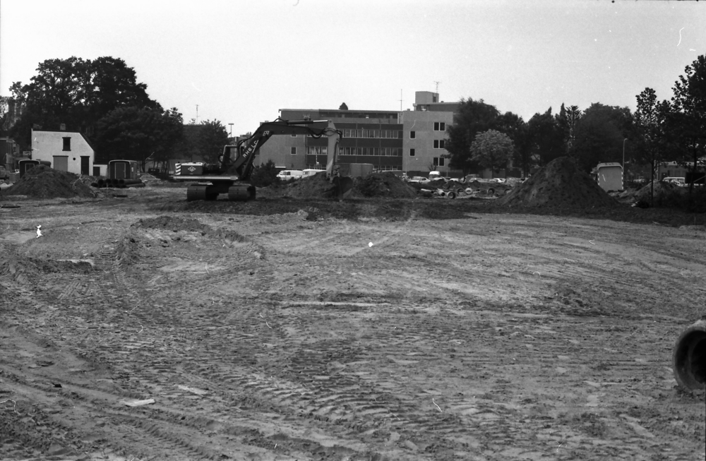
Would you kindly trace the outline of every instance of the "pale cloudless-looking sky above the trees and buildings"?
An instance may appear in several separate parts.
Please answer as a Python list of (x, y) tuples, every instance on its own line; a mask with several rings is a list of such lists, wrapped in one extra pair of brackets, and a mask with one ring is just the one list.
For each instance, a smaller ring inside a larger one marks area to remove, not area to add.
[(668, 99), (706, 54), (705, 2), (2, 0), (0, 94), (45, 59), (113, 56), (162, 107), (233, 133), (278, 109), (411, 109), (415, 91), (529, 120)]

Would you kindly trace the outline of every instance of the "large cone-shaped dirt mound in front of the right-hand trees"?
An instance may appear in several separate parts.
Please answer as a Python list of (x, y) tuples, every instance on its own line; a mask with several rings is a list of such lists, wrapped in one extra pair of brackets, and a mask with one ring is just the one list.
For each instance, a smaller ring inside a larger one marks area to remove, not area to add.
[(569, 157), (559, 157), (539, 169), (498, 203), (508, 206), (602, 208), (618, 205)]

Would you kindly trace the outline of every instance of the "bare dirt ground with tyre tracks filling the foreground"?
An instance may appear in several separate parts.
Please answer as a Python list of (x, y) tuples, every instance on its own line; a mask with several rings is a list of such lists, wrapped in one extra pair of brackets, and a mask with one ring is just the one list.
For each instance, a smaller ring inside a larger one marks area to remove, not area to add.
[(0, 201), (2, 460), (705, 457), (691, 216), (119, 193)]

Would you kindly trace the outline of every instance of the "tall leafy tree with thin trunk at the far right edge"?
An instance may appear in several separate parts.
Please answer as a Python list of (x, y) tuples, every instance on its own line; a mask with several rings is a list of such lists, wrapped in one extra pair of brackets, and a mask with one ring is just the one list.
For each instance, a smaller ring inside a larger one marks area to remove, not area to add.
[[(678, 134), (678, 145), (692, 162), (695, 178), (699, 158), (706, 155), (706, 55), (698, 56), (684, 69), (686, 76), (679, 76), (674, 83), (671, 98), (674, 133)], [(693, 184), (693, 182), (691, 183)], [(693, 185), (689, 186), (691, 194)]]

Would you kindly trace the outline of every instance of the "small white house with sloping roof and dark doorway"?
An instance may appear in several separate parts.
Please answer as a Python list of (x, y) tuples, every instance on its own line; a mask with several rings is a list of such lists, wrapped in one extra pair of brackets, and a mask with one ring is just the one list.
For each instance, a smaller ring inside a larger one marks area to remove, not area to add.
[(100, 176), (94, 159), (95, 150), (83, 133), (32, 130), (32, 160), (52, 162), (62, 172)]

